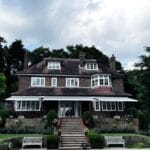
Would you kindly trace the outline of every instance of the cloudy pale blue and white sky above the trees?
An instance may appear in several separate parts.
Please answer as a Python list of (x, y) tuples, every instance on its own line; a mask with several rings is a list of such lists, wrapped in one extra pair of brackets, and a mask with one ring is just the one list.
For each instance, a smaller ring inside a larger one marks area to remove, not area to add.
[(150, 0), (0, 0), (0, 35), (29, 50), (95, 45), (131, 69), (150, 46)]

